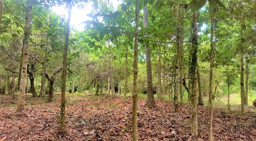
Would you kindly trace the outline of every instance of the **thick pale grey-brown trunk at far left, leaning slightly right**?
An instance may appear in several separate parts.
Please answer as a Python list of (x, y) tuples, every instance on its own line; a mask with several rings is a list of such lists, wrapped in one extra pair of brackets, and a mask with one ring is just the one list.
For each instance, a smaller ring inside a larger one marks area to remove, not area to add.
[(17, 101), (17, 112), (25, 110), (25, 89), (27, 83), (27, 60), (28, 60), (28, 50), (29, 44), (28, 39), (30, 38), (30, 24), (31, 24), (31, 12), (32, 6), (29, 4), (27, 6), (27, 13), (26, 13), (26, 21), (25, 21), (25, 28), (24, 28), (24, 40), (23, 40), (23, 51), (22, 51), (22, 60), (21, 60), (21, 71), (20, 71), (20, 86), (19, 86), (19, 97)]

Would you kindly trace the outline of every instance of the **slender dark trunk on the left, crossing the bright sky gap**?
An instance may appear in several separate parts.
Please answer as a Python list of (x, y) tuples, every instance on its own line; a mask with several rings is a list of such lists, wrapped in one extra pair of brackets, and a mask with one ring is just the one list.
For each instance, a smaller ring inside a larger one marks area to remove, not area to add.
[(60, 130), (65, 131), (65, 93), (66, 93), (66, 75), (67, 75), (67, 53), (68, 53), (68, 39), (69, 39), (69, 23), (71, 17), (72, 5), (70, 0), (67, 2), (68, 6), (68, 21), (65, 36), (65, 48), (63, 53), (63, 73), (62, 73), (62, 87), (61, 87), (61, 107), (60, 107)]

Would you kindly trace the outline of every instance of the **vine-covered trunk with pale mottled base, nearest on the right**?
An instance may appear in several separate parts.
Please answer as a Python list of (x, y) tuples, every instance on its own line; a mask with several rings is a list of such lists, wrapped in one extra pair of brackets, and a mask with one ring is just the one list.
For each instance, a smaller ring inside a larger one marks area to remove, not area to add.
[(193, 12), (193, 33), (192, 33), (192, 61), (191, 61), (191, 72), (192, 72), (192, 117), (191, 117), (191, 135), (198, 136), (197, 130), (197, 11)]

